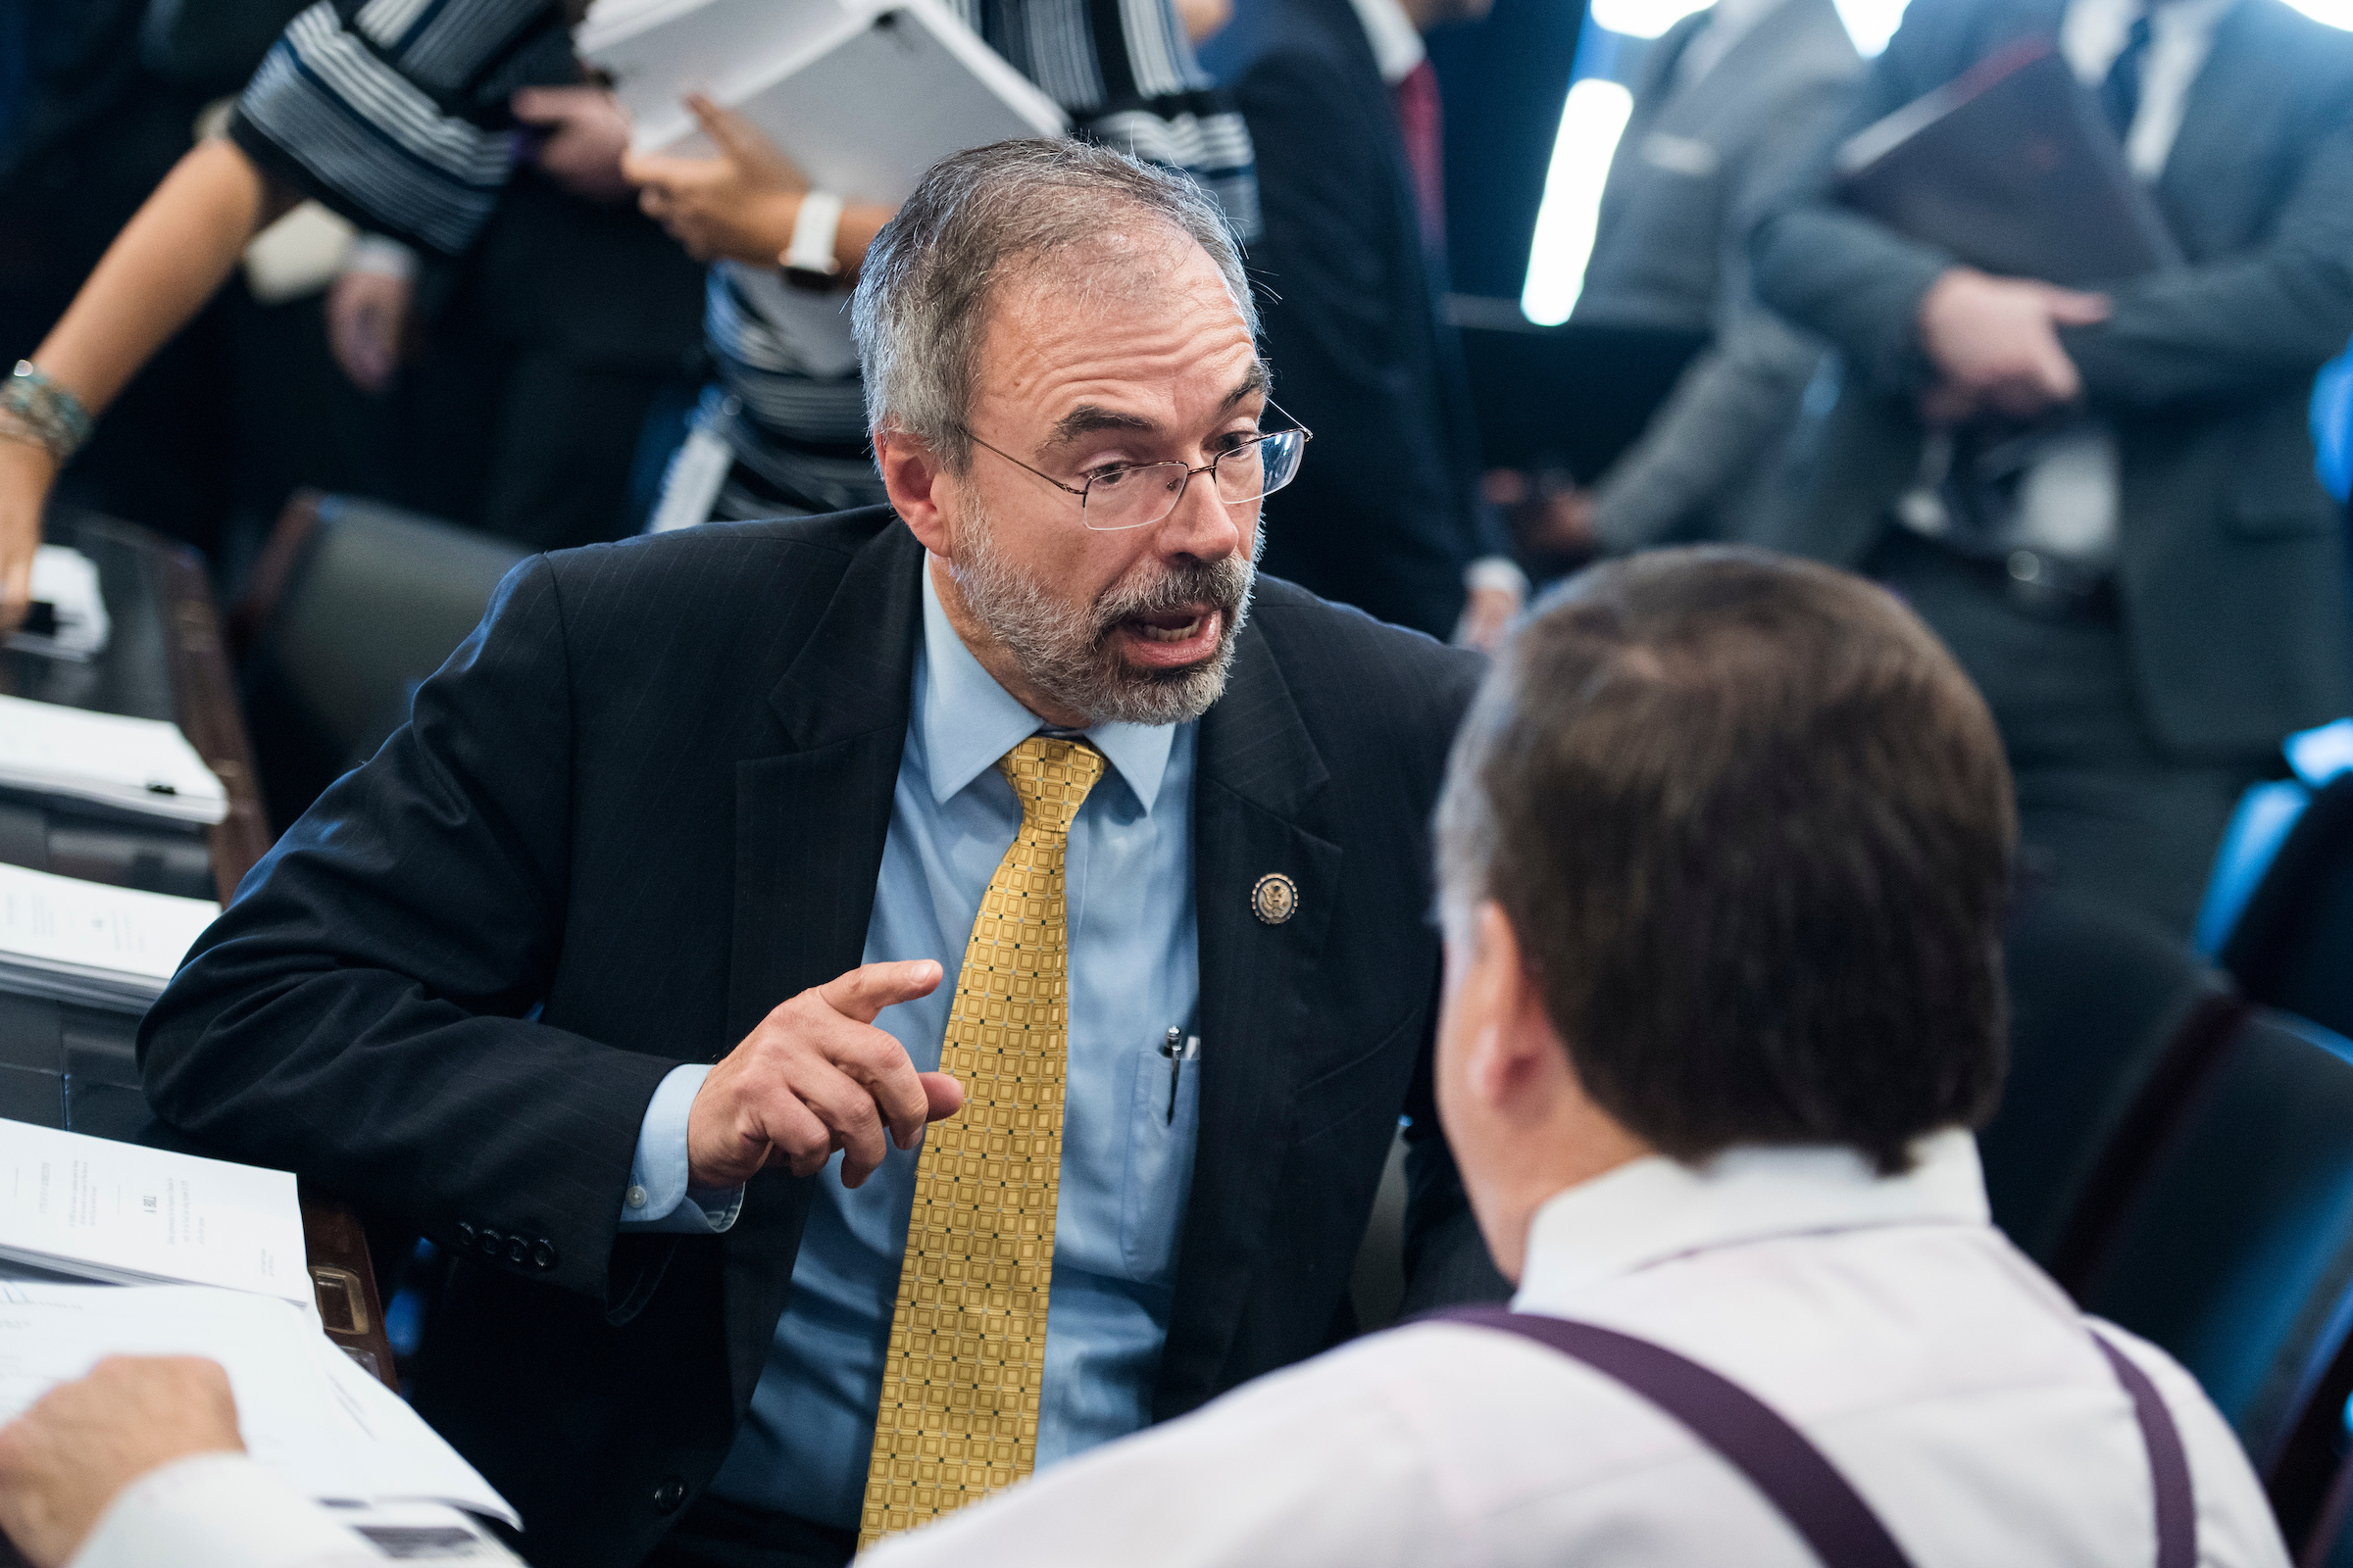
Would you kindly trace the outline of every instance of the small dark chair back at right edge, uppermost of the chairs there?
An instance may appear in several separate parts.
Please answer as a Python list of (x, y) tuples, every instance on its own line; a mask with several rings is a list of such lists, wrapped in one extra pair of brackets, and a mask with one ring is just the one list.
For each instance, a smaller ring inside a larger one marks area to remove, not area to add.
[(2221, 964), (2254, 1001), (2353, 1034), (2353, 773), (2313, 792)]

